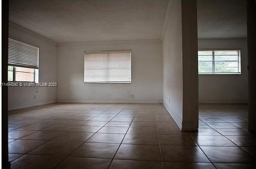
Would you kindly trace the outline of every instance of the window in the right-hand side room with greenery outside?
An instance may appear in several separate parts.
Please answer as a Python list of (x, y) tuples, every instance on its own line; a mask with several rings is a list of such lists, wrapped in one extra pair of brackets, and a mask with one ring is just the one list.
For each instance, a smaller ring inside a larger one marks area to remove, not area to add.
[(198, 74), (241, 74), (241, 51), (198, 51)]

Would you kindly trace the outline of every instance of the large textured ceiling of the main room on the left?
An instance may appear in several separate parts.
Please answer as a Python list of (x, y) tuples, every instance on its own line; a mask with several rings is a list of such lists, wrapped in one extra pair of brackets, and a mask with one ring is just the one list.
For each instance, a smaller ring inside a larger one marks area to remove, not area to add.
[(11, 0), (10, 21), (55, 42), (160, 39), (167, 1)]

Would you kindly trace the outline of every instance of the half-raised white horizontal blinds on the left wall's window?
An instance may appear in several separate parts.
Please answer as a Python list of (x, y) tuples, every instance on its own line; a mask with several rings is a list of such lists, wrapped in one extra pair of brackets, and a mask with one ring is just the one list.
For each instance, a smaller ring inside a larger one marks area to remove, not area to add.
[(38, 68), (38, 52), (35, 46), (9, 38), (8, 41), (8, 64), (13, 66)]

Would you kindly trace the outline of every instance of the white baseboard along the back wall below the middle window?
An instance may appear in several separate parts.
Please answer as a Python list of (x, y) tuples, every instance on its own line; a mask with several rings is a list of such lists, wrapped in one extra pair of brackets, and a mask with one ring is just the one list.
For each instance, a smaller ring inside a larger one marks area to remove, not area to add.
[(58, 103), (84, 103), (84, 104), (162, 104), (162, 100), (57, 100)]

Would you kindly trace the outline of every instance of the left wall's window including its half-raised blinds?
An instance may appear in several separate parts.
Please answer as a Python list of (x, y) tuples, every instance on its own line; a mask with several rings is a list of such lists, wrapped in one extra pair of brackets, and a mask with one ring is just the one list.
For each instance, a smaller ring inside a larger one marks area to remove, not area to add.
[(38, 83), (38, 47), (9, 38), (8, 81)]

